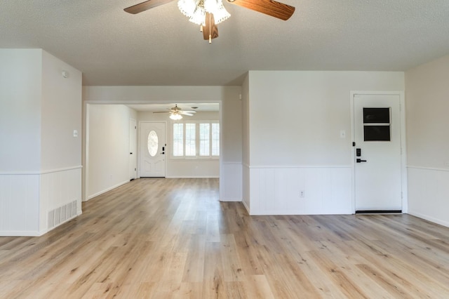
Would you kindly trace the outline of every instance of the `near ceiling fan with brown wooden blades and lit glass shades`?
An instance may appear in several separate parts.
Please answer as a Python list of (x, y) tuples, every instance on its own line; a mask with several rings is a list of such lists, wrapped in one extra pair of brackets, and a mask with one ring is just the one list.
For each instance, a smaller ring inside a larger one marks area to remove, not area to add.
[[(133, 14), (142, 13), (171, 1), (174, 0), (149, 0), (125, 8), (124, 11)], [(274, 0), (227, 0), (227, 2), (281, 20), (288, 20), (295, 12), (295, 7)], [(177, 6), (191, 22), (201, 26), (203, 38), (208, 39), (209, 44), (212, 39), (218, 37), (217, 24), (231, 16), (223, 6), (222, 0), (178, 0)]]

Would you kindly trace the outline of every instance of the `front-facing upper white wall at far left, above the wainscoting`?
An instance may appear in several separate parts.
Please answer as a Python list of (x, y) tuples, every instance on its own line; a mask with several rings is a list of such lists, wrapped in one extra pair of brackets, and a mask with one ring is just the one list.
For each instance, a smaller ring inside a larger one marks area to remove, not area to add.
[(0, 49), (0, 171), (41, 169), (42, 51)]

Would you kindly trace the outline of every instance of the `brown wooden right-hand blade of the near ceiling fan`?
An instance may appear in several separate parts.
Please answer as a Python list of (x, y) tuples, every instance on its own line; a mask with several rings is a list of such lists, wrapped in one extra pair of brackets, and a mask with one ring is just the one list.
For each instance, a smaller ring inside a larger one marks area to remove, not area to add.
[(229, 3), (248, 8), (252, 11), (258, 11), (266, 15), (271, 15), (274, 18), (281, 20), (288, 20), (295, 8), (293, 6), (283, 4), (274, 0), (227, 0)]

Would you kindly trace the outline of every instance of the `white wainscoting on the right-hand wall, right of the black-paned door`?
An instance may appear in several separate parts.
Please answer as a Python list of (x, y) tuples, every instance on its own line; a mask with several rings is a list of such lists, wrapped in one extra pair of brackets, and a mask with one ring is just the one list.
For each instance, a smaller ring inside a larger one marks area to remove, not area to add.
[(408, 166), (408, 213), (449, 227), (449, 170)]

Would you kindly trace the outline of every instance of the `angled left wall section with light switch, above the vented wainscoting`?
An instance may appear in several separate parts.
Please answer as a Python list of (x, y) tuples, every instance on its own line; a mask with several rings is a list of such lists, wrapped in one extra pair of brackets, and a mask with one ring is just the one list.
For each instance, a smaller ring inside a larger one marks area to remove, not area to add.
[(42, 58), (41, 169), (81, 166), (81, 72), (45, 51)]

